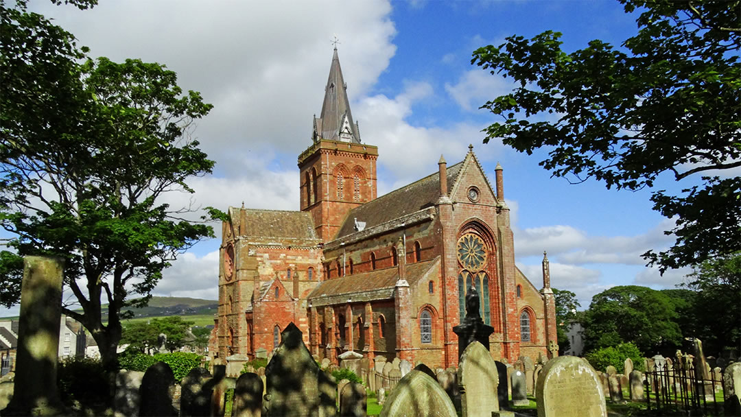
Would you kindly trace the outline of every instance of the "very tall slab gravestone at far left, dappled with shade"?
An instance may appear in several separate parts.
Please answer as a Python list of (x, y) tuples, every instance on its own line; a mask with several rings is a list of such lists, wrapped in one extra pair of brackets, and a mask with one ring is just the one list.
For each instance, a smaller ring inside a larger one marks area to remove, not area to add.
[(64, 413), (56, 387), (64, 261), (47, 256), (23, 259), (16, 377), (3, 416)]

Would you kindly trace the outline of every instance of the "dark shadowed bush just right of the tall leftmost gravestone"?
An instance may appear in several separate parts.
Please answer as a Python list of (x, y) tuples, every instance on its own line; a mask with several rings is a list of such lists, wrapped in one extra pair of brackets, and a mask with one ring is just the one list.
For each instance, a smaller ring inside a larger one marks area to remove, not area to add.
[(56, 372), (59, 397), (65, 404), (79, 401), (84, 406), (107, 404), (108, 378), (99, 359), (66, 358)]

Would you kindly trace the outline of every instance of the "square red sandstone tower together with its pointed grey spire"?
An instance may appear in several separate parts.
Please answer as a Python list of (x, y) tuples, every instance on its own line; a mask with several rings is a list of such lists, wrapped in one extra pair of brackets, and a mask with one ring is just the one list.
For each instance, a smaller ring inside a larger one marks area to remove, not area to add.
[(299, 156), (301, 210), (311, 214), (317, 236), (329, 241), (350, 209), (375, 199), (378, 192), (378, 148), (360, 141), (336, 48), (312, 139)]

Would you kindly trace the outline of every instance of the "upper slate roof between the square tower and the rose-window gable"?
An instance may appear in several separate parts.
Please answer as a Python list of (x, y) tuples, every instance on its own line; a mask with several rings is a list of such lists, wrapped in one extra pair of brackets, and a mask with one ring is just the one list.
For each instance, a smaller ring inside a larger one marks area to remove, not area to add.
[[(463, 162), (447, 167), (448, 173), (448, 196), (453, 190), (458, 176), (463, 167)], [(440, 173), (436, 172), (423, 179), (415, 181), (391, 193), (380, 196), (375, 200), (368, 201), (362, 206), (350, 210), (348, 217), (339, 229), (336, 238), (348, 236), (355, 233), (355, 219), (365, 221), (365, 228), (391, 221), (409, 213), (431, 207), (440, 197)]]

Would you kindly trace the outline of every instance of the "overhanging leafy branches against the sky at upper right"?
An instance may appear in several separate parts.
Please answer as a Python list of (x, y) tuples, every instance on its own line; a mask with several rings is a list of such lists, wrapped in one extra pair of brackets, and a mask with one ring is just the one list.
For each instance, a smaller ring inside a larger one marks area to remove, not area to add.
[(542, 167), (569, 181), (627, 190), (662, 174), (689, 181), (680, 195), (651, 196), (677, 218), (665, 232), (674, 245), (643, 254), (662, 273), (741, 250), (741, 177), (728, 173), (741, 167), (741, 1), (619, 1), (642, 10), (622, 49), (594, 40), (566, 53), (547, 31), (474, 51), (472, 64), (516, 81), (482, 106), (504, 120), (484, 141), (546, 148)]

